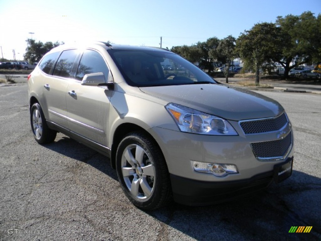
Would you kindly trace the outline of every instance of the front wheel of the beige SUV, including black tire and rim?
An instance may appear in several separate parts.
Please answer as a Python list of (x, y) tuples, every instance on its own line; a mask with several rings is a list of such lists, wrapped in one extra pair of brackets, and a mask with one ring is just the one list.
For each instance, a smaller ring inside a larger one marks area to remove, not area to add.
[[(136, 154), (139, 156), (136, 157)], [(126, 155), (133, 158), (129, 158), (131, 163)], [(164, 156), (157, 143), (143, 132), (129, 133), (119, 143), (116, 170), (124, 193), (136, 207), (154, 210), (171, 201), (169, 172)]]

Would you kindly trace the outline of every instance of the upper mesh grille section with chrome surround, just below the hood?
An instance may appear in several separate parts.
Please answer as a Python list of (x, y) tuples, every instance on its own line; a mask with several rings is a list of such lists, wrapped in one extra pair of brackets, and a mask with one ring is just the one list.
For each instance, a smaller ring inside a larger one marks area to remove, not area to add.
[(275, 118), (252, 121), (240, 121), (240, 126), (245, 134), (256, 134), (279, 130), (287, 122), (288, 119), (286, 118), (285, 113), (282, 113), (281, 115)]

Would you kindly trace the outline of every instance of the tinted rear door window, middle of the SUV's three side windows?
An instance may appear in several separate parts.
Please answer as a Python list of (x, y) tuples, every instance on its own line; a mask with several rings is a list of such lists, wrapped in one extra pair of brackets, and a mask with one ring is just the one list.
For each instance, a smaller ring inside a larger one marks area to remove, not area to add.
[(72, 77), (71, 71), (77, 55), (78, 51), (76, 49), (65, 50), (62, 52), (56, 63), (53, 75), (67, 78)]

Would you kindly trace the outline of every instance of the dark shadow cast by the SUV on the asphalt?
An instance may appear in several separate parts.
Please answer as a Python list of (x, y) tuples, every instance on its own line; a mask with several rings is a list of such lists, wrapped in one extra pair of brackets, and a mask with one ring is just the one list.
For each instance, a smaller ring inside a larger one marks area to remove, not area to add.
[[(107, 157), (69, 137), (45, 147), (118, 181)], [(242, 199), (203, 207), (171, 203), (145, 213), (162, 223), (159, 233), (168, 240), (180, 239), (181, 233), (196, 240), (320, 240), (320, 188), (320, 178), (293, 170), (284, 182)], [(310, 233), (293, 234), (292, 226), (313, 228)]]

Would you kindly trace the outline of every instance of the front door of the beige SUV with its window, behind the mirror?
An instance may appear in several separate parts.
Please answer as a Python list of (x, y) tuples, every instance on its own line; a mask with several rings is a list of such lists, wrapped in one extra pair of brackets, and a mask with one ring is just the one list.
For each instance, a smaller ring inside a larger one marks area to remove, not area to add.
[(67, 87), (68, 127), (78, 135), (106, 146), (111, 91), (100, 86), (81, 85), (85, 74), (98, 72), (104, 73), (107, 82), (111, 74), (104, 58), (95, 50), (85, 50), (76, 78)]

